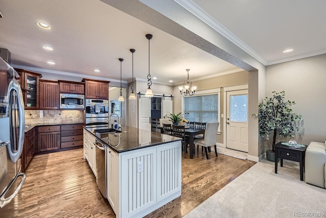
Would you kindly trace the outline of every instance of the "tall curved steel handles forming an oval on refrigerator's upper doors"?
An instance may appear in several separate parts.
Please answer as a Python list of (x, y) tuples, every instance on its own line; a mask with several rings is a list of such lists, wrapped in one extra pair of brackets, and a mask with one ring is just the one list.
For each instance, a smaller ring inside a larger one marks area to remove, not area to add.
[[(12, 160), (13, 163), (16, 163), (18, 159), (20, 158), (20, 155), (23, 150), (23, 145), (24, 145), (24, 136), (25, 136), (25, 111), (24, 111), (24, 102), (23, 102), (23, 96), (22, 92), (20, 89), (20, 85), (17, 82), (17, 80), (12, 79), (12, 81), (9, 83), (8, 87), (8, 103), (9, 103), (9, 120), (10, 120), (10, 134), (12, 133), (12, 92), (16, 91), (17, 92), (17, 106), (18, 106), (18, 111), (19, 111), (19, 138), (18, 138), (18, 147), (17, 151), (15, 151), (15, 148), (13, 146), (8, 146), (8, 153), (10, 156), (10, 159)], [(10, 143), (13, 143), (12, 141)]]

